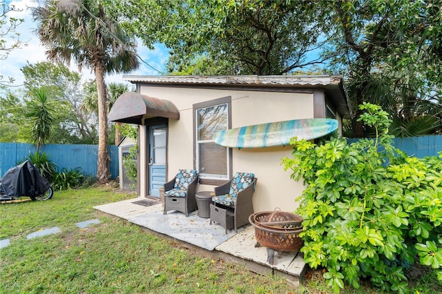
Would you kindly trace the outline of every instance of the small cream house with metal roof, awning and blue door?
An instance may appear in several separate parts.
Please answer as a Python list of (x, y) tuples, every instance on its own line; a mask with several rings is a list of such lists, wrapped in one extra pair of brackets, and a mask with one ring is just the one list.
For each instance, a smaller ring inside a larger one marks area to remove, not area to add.
[(293, 211), (305, 188), (281, 166), (291, 146), (227, 148), (212, 137), (220, 130), (287, 121), (332, 118), (342, 133), (350, 117), (340, 76), (124, 76), (137, 86), (115, 102), (111, 121), (139, 126), (140, 197), (160, 197), (158, 188), (178, 169), (200, 173), (197, 191), (213, 190), (236, 172), (258, 177), (256, 212)]

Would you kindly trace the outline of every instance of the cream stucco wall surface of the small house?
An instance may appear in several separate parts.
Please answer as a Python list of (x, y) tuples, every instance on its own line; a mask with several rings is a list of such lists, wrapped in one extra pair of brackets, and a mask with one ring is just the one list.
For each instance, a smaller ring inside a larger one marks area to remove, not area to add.
[[(314, 117), (314, 93), (265, 92), (249, 90), (209, 90), (141, 86), (140, 94), (171, 101), (180, 111), (180, 119), (169, 119), (167, 179), (173, 178), (179, 168), (193, 168), (193, 104), (222, 97), (231, 97), (232, 128), (289, 119)], [(143, 145), (143, 140), (140, 140)], [(140, 150), (146, 150), (142, 146)], [(232, 172), (255, 173), (258, 177), (253, 195), (255, 211), (292, 211), (298, 206), (296, 197), (302, 193), (302, 183), (290, 179), (290, 173), (281, 166), (282, 157), (291, 155), (290, 146), (270, 148), (233, 149)], [(143, 152), (143, 151), (142, 151)], [(143, 172), (141, 172), (143, 175)], [(142, 176), (141, 181), (145, 180)], [(200, 184), (198, 191), (215, 186)], [(140, 191), (140, 196), (146, 194)]]

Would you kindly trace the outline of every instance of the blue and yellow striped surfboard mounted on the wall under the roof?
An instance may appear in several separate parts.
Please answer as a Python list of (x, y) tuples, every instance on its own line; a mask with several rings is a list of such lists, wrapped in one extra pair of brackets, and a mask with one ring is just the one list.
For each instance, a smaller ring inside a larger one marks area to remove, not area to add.
[(231, 148), (285, 146), (292, 137), (317, 139), (338, 128), (336, 119), (293, 119), (222, 130), (213, 135), (216, 144)]

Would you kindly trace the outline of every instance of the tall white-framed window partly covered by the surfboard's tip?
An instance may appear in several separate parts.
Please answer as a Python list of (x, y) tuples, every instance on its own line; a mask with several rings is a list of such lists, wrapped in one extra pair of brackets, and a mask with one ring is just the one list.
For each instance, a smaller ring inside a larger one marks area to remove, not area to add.
[(231, 98), (206, 101), (193, 106), (195, 113), (195, 168), (203, 180), (226, 180), (231, 172), (231, 150), (213, 142), (213, 135), (231, 128)]

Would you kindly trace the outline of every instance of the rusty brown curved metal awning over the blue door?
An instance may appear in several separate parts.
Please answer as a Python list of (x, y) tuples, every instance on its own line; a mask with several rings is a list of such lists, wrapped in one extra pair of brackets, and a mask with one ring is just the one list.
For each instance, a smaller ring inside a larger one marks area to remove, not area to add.
[(118, 97), (109, 112), (109, 120), (126, 124), (142, 124), (142, 119), (167, 117), (180, 119), (180, 112), (171, 101), (135, 92), (125, 92)]

